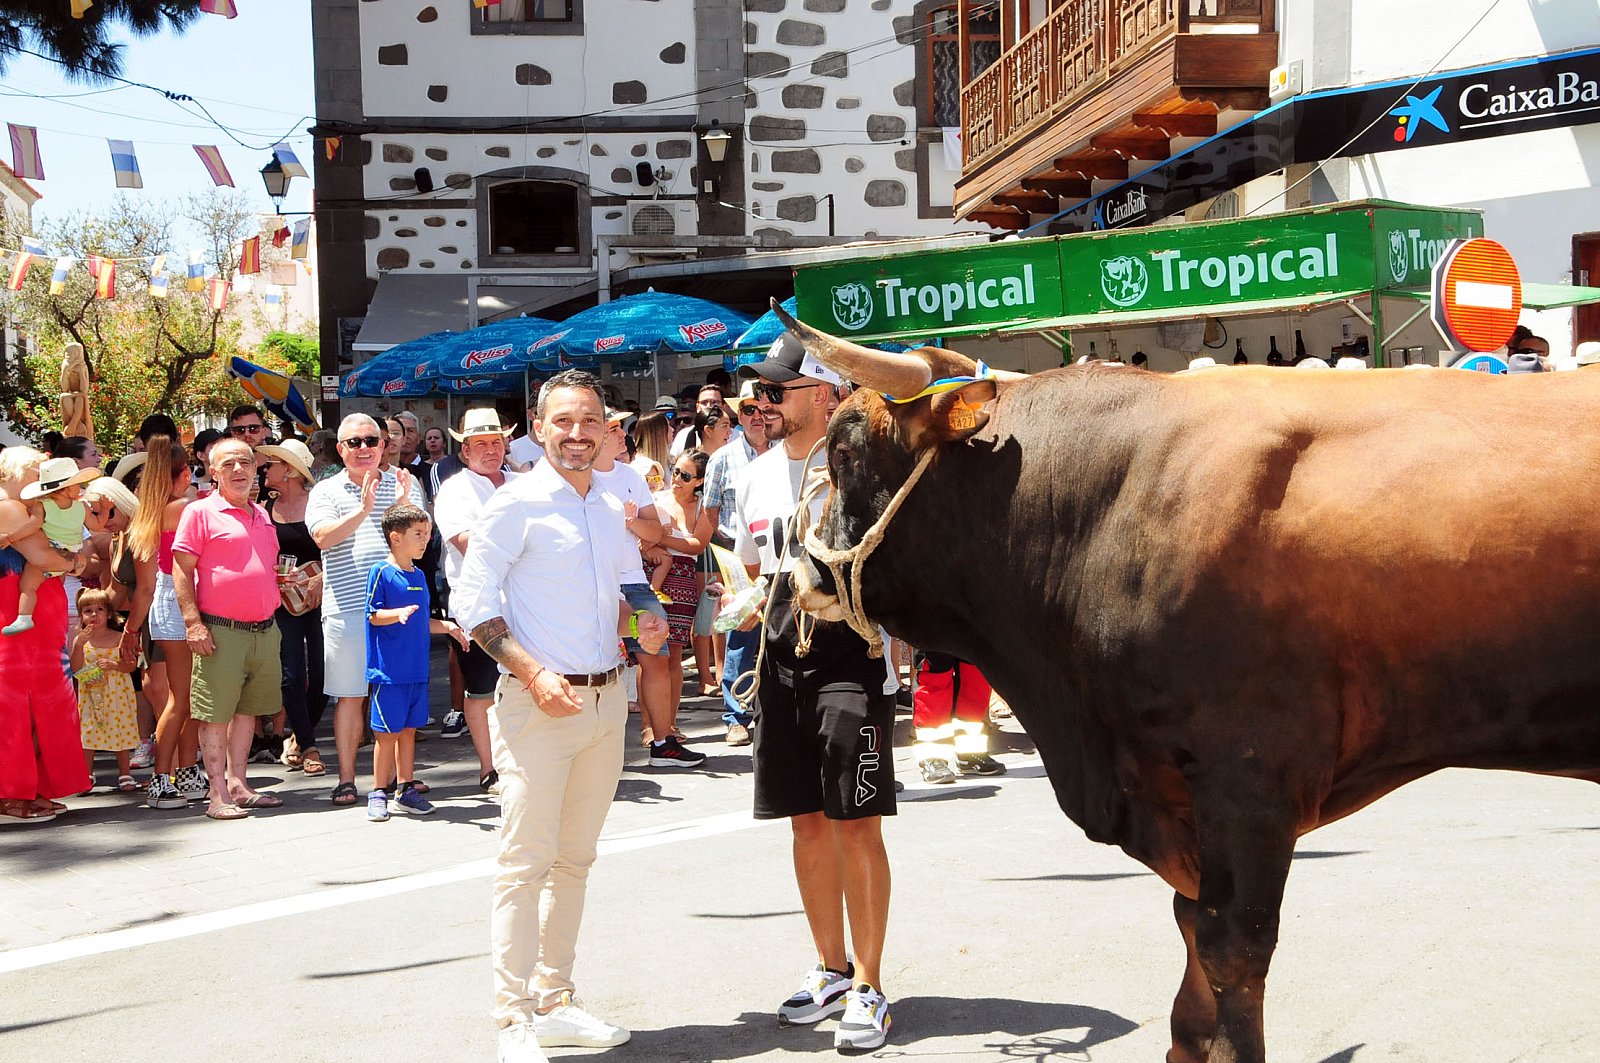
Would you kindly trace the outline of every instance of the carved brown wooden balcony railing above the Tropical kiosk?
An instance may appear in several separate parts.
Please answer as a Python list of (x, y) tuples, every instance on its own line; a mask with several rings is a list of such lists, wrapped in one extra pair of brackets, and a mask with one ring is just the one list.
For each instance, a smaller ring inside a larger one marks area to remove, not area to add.
[(962, 88), (971, 168), (1114, 78), (1146, 50), (1206, 22), (1259, 21), (1272, 0), (1066, 0)]

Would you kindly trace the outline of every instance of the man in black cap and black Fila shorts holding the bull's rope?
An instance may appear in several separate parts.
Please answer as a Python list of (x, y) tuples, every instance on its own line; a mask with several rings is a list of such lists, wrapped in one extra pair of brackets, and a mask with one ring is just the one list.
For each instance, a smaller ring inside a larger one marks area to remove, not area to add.
[[(755, 706), (755, 818), (787, 818), (795, 880), (818, 964), (778, 1007), (781, 1025), (816, 1023), (843, 1012), (834, 1044), (877, 1049), (890, 1029), (880, 983), (890, 913), (883, 816), (894, 815), (894, 688), (886, 663), (845, 624), (816, 623), (797, 656), (790, 572), (802, 552), (795, 507), (806, 475), (827, 475), (827, 431), (838, 381), (784, 335), (766, 359), (741, 370), (770, 440), (738, 491), (734, 548), (749, 573), (771, 584)], [(811, 519), (821, 515), (822, 496)], [(754, 620), (750, 621), (755, 623)], [(888, 693), (886, 693), (888, 692)], [(845, 913), (850, 945), (845, 946)]]

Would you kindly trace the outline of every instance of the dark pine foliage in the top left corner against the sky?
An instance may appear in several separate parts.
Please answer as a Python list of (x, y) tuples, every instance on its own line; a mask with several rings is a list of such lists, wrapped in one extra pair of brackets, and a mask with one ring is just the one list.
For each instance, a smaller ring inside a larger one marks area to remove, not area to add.
[[(282, 0), (275, 0), (282, 2)], [(182, 30), (200, 14), (200, 0), (94, 0), (82, 19), (67, 0), (0, 0), (0, 74), (18, 53), (59, 61), (83, 82), (122, 74), (122, 45), (110, 32), (150, 37)]]

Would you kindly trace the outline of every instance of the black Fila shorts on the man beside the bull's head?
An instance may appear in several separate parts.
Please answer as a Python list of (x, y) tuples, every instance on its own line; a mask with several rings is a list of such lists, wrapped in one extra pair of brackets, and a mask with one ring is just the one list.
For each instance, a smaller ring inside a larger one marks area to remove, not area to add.
[(894, 815), (894, 695), (859, 684), (790, 687), (762, 669), (755, 818)]

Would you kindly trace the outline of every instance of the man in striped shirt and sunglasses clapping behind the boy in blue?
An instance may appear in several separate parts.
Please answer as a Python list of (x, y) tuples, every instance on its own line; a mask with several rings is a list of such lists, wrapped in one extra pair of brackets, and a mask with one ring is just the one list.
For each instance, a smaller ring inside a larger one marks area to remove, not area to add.
[(318, 482), (306, 501), (306, 527), (322, 548), (323, 692), (333, 708), (333, 744), (339, 751), (339, 783), (333, 804), (354, 805), (355, 751), (362, 743), (366, 700), (366, 576), (389, 554), (384, 511), (398, 499), (424, 504), (405, 469), (381, 472), (384, 431), (365, 413), (339, 423), (344, 471)]

